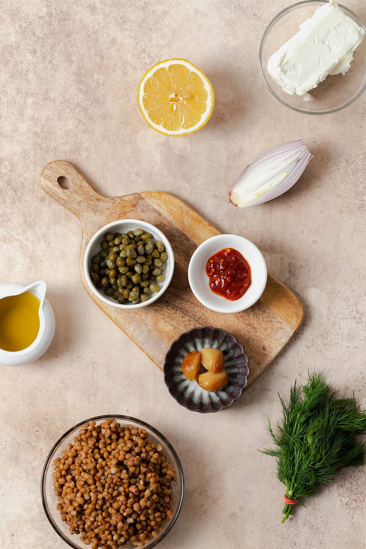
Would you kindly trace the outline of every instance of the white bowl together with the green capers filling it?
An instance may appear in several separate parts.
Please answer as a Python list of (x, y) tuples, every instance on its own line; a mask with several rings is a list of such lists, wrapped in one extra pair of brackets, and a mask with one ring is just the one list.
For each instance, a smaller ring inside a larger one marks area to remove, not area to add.
[(174, 255), (154, 225), (123, 219), (94, 234), (83, 266), (88, 286), (99, 299), (119, 309), (138, 309), (164, 294), (173, 276)]

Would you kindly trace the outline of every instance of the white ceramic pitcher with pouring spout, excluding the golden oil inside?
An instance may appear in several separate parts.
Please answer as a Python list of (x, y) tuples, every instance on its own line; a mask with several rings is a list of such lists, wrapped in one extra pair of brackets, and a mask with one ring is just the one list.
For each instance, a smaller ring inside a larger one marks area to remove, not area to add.
[(30, 292), (40, 300), (40, 309), (38, 310), (40, 330), (36, 339), (29, 347), (21, 351), (13, 352), (0, 349), (0, 364), (5, 366), (27, 364), (39, 358), (48, 349), (55, 333), (55, 316), (52, 307), (46, 299), (46, 288), (47, 284), (43, 280), (33, 282), (29, 286), (18, 283), (0, 285), (0, 299)]

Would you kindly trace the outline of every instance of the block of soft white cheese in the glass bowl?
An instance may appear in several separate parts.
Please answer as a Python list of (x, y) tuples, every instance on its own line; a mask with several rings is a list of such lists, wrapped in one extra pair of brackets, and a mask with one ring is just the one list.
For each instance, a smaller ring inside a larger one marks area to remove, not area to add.
[(345, 74), (364, 29), (330, 0), (300, 25), (268, 60), (268, 72), (284, 92), (303, 96), (328, 74)]

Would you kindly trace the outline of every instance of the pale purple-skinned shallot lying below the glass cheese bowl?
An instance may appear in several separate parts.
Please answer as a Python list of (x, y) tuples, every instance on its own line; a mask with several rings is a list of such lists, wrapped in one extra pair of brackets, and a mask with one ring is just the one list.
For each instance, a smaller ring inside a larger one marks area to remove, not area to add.
[(312, 158), (302, 139), (264, 150), (239, 173), (229, 201), (247, 208), (279, 197), (294, 186)]

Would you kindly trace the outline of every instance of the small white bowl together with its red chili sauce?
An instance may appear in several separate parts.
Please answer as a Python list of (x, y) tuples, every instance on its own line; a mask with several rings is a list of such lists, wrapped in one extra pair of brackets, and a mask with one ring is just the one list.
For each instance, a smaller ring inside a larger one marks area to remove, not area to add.
[(261, 297), (267, 266), (250, 240), (218, 234), (196, 249), (189, 262), (188, 279), (202, 305), (217, 312), (239, 312)]

